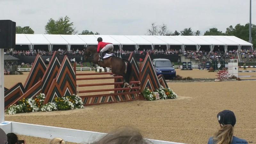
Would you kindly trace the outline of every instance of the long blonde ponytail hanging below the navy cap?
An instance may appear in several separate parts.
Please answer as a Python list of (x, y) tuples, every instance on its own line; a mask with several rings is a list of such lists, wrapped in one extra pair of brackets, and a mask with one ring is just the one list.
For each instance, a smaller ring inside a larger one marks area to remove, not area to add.
[(230, 144), (233, 140), (233, 126), (226, 124), (220, 128), (220, 130), (213, 135), (213, 141), (216, 144)]

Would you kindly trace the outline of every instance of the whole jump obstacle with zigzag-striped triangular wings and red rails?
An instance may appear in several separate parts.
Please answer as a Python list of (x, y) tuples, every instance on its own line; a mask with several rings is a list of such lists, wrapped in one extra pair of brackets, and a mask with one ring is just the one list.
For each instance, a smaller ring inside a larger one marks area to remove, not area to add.
[[(160, 88), (160, 85), (168, 88), (163, 75), (156, 75), (152, 61), (149, 54), (146, 55), (143, 63), (139, 64), (133, 52), (129, 57), (132, 65), (132, 78), (130, 85), (132, 89), (124, 87), (122, 76), (104, 76), (113, 73), (91, 73), (91, 74), (76, 74), (71, 65), (68, 56), (64, 56), (60, 60), (57, 52), (54, 52), (49, 65), (46, 66), (42, 57), (38, 54), (34, 64), (29, 72), (28, 78), (24, 85), (21, 83), (14, 84), (10, 89), (4, 88), (4, 109), (10, 105), (17, 104), (20, 99), (33, 98), (40, 93), (45, 94), (44, 104), (52, 102), (55, 97), (62, 97), (72, 94), (77, 94), (82, 98), (84, 106), (96, 105), (113, 102), (123, 102), (131, 100), (140, 100), (142, 97), (140, 93), (149, 88), (152, 91)], [(90, 78), (76, 78), (77, 76), (91, 75)], [(103, 75), (102, 77), (93, 77), (96, 75)], [(114, 79), (114, 83), (105, 84), (76, 84), (76, 81), (85, 80), (100, 80), (100, 79)], [(77, 87), (89, 87), (95, 85), (113, 85), (112, 89), (86, 90), (78, 91)], [(114, 91), (114, 93), (107, 94), (93, 94), (87, 95), (89, 92), (107, 92)]]

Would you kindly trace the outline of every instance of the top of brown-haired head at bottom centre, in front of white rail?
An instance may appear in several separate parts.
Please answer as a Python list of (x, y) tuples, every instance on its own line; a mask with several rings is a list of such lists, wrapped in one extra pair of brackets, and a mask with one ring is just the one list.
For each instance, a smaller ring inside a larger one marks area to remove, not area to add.
[(92, 144), (153, 144), (132, 127), (119, 127)]

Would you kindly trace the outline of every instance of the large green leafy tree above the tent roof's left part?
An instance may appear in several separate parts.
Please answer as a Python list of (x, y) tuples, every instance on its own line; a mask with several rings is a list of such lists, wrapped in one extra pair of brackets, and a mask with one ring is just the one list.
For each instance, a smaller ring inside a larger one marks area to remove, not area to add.
[(47, 22), (44, 27), (46, 34), (60, 34), (60, 35), (72, 35), (76, 28), (73, 28), (73, 22), (70, 22), (70, 18), (65, 16), (59, 20), (53, 20), (52, 18)]

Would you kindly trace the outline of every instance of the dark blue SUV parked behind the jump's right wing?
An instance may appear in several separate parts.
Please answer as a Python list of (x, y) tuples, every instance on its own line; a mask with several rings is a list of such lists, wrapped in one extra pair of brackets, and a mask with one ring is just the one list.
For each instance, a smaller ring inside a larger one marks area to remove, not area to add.
[(154, 59), (153, 66), (157, 76), (164, 75), (165, 79), (172, 79), (176, 76), (175, 68), (173, 68), (172, 62), (168, 59)]

